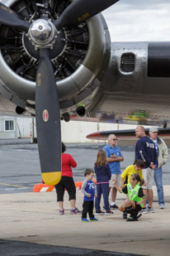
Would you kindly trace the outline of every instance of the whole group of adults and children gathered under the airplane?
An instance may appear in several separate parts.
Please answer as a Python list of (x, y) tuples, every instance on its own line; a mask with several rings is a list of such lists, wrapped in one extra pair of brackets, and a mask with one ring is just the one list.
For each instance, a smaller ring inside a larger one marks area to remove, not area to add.
[[(168, 161), (168, 147), (162, 138), (158, 138), (156, 127), (149, 128), (148, 137), (144, 127), (137, 126), (135, 135), (139, 138), (135, 145), (135, 162), (126, 167), (122, 173), (120, 162), (124, 161), (124, 157), (120, 147), (117, 146), (115, 134), (110, 134), (108, 144), (97, 152), (94, 171), (92, 169), (84, 171), (85, 180), (81, 189), (83, 211), (76, 207), (72, 167), (76, 167), (77, 162), (71, 155), (65, 153), (66, 148), (62, 142), (62, 177), (59, 184), (55, 186), (60, 215), (64, 215), (64, 190), (66, 189), (71, 205), (70, 214), (81, 214), (83, 222), (97, 221), (96, 215), (113, 215), (112, 210), (116, 209), (123, 213), (123, 219), (136, 221), (142, 214), (154, 212), (153, 180), (158, 191), (158, 205), (160, 209), (164, 209), (162, 167)], [(93, 181), (94, 174), (96, 174), (96, 186)], [(123, 205), (116, 205), (117, 191), (125, 194)], [(109, 203), (110, 193), (111, 202)], [(101, 205), (102, 197), (104, 205)]]

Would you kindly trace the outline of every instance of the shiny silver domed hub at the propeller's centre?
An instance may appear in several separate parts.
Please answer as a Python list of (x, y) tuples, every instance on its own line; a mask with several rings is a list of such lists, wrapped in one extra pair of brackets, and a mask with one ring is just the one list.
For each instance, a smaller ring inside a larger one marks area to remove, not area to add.
[(58, 34), (59, 31), (50, 20), (38, 19), (31, 24), (26, 36), (28, 36), (35, 50), (37, 50), (40, 48), (52, 49)]

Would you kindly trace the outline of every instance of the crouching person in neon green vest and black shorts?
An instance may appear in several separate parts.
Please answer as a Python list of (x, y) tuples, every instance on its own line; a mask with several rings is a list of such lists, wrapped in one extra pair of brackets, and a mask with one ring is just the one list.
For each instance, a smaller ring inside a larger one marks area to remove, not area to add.
[(120, 205), (118, 209), (126, 214), (130, 214), (130, 218), (127, 221), (138, 220), (141, 216), (138, 213), (144, 206), (145, 196), (141, 188), (144, 181), (140, 180), (138, 173), (134, 173), (130, 176), (130, 183), (123, 189), (116, 185), (116, 180), (112, 180), (112, 182), (120, 193), (124, 193), (127, 196), (124, 204)]

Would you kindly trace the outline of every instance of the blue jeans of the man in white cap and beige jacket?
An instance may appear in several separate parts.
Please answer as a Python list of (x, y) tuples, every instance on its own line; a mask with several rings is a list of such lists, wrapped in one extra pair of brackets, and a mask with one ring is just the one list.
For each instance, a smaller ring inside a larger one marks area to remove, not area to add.
[(154, 169), (154, 181), (157, 186), (158, 193), (158, 204), (164, 205), (164, 196), (163, 196), (163, 171), (162, 167), (156, 167)]

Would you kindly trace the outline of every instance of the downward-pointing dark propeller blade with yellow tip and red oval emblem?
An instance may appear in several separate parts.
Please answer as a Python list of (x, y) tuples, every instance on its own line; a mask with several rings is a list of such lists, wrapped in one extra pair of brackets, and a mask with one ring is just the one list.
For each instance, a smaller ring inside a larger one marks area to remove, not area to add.
[(36, 74), (35, 118), (43, 181), (55, 185), (61, 177), (59, 97), (49, 49), (40, 49)]

